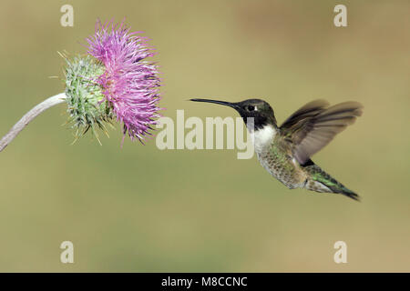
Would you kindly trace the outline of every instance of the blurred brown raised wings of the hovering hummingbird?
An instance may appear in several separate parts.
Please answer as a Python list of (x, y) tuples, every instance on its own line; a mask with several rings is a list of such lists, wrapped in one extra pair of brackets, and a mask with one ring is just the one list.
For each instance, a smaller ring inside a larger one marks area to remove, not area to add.
[(280, 127), (284, 139), (291, 143), (293, 156), (301, 165), (362, 115), (363, 105), (357, 102), (327, 106), (328, 103), (323, 100), (310, 102)]

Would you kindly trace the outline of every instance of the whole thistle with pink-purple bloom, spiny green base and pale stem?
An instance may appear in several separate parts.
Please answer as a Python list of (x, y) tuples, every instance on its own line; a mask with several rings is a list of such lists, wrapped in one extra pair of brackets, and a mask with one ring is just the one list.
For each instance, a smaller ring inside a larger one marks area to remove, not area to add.
[[(140, 142), (148, 135), (159, 110), (159, 72), (146, 59), (154, 55), (148, 38), (130, 32), (123, 22), (97, 21), (94, 35), (87, 37), (87, 54), (66, 59), (66, 90), (47, 98), (24, 115), (0, 140), (0, 151), (37, 115), (51, 106), (67, 102), (68, 122), (76, 129), (76, 139), (117, 119), (123, 125), (123, 141), (128, 135)], [(99, 139), (98, 139), (99, 141)]]

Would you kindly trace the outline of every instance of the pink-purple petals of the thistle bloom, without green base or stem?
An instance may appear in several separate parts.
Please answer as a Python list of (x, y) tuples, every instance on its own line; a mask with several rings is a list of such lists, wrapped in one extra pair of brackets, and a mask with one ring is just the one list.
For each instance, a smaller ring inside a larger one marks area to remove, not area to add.
[(124, 23), (103, 25), (99, 21), (95, 34), (87, 38), (87, 53), (105, 66), (96, 79), (104, 101), (124, 125), (124, 135), (140, 141), (160, 116), (159, 73), (157, 65), (145, 60), (154, 55), (146, 40)]

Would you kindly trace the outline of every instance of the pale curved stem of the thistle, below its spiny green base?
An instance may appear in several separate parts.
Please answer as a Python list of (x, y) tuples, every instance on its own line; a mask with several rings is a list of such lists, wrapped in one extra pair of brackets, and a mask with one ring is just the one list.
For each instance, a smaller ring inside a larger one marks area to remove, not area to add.
[(37, 115), (40, 115), (46, 109), (63, 103), (66, 100), (67, 96), (65, 93), (60, 93), (54, 96), (51, 96), (44, 100), (42, 103), (33, 107), (30, 111), (26, 113), (21, 119), (10, 129), (10, 131), (2, 137), (0, 140), (0, 152), (5, 149), (5, 146), (11, 143), (11, 141), (17, 136), (25, 127), (36, 118)]

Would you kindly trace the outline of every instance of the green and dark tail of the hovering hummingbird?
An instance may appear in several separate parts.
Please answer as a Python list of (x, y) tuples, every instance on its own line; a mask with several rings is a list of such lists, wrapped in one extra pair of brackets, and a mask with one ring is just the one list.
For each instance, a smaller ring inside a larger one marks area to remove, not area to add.
[(310, 178), (307, 179), (304, 186), (306, 189), (316, 192), (342, 194), (343, 196), (360, 201), (360, 196), (343, 186), (342, 183), (324, 172), (319, 166), (313, 164), (306, 166), (305, 169), (310, 174)]

